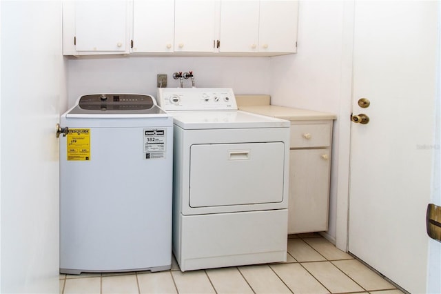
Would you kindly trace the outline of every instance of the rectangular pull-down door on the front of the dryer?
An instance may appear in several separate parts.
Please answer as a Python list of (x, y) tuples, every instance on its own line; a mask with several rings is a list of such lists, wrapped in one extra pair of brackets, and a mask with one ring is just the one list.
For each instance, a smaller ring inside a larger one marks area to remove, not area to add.
[(193, 145), (189, 206), (282, 202), (284, 154), (283, 142)]

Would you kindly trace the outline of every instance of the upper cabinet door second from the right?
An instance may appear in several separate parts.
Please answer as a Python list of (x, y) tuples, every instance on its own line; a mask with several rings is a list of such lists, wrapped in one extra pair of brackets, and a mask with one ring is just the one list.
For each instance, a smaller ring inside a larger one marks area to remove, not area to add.
[(223, 0), (219, 52), (257, 52), (259, 1)]

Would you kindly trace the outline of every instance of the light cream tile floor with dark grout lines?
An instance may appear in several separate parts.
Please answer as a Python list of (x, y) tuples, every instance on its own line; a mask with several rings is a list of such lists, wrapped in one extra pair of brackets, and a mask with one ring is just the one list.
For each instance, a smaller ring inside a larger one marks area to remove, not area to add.
[[(173, 258), (174, 259), (174, 258)], [(402, 293), (316, 233), (290, 235), (287, 262), (182, 273), (60, 275), (60, 293)]]

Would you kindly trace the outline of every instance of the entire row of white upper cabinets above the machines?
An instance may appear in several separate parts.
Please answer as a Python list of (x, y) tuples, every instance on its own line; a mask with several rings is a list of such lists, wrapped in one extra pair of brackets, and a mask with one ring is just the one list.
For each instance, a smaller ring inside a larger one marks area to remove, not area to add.
[(69, 0), (63, 54), (283, 55), (297, 19), (294, 0)]

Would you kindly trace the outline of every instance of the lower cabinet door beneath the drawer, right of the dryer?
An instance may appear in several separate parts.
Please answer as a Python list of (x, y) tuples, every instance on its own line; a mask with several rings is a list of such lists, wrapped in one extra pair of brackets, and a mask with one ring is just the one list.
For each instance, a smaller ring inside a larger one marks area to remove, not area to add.
[(289, 234), (327, 231), (329, 153), (329, 149), (290, 151)]

